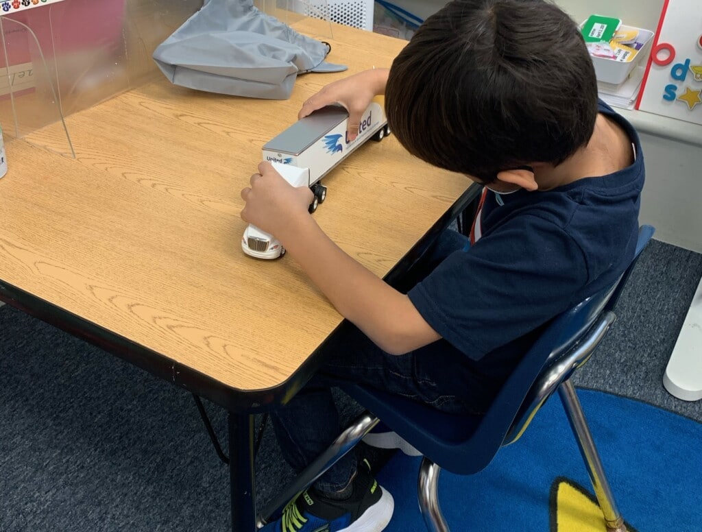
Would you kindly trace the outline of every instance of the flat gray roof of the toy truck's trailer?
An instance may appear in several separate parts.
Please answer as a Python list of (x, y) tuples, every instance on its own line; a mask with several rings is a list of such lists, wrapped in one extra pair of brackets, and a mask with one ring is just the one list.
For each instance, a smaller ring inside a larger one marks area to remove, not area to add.
[(263, 149), (299, 155), (348, 116), (341, 105), (322, 107), (266, 142)]

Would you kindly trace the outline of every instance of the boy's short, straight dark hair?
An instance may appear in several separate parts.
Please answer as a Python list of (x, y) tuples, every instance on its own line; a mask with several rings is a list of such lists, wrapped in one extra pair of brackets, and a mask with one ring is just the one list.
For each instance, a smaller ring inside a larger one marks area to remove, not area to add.
[(542, 0), (454, 0), (399, 53), (388, 125), (430, 164), (491, 182), (588, 143), (597, 81), (580, 29)]

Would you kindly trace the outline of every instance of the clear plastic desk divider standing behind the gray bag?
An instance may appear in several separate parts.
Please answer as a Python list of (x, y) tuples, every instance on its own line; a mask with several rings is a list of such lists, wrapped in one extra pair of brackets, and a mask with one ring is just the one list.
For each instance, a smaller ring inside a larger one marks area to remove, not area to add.
[[(253, 0), (253, 5), (288, 26), (305, 18), (326, 21), (310, 36), (332, 38), (326, 0)], [(202, 0), (47, 0), (13, 6), (0, 0), (4, 138), (22, 138), (75, 158), (81, 146), (69, 135), (71, 115), (160, 77), (154, 49), (199, 11)]]

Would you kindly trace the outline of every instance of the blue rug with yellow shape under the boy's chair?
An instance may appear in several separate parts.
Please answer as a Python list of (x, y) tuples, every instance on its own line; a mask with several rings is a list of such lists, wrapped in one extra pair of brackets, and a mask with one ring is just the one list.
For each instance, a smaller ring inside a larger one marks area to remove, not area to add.
[[(603, 392), (578, 397), (630, 531), (702, 531), (702, 424)], [(418, 458), (396, 455), (378, 477), (395, 497), (388, 532), (425, 531), (407, 481), (418, 467)], [(592, 493), (557, 397), (485, 470), (439, 477), (442, 511), (456, 531), (604, 532)]]

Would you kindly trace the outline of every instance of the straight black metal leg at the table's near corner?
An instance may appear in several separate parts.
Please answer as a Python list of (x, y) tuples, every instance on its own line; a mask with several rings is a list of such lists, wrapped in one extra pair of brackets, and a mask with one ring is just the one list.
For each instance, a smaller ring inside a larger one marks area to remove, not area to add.
[(229, 413), (229, 480), (234, 532), (256, 532), (253, 420), (253, 414)]

